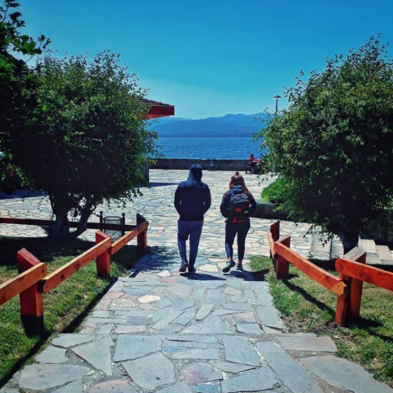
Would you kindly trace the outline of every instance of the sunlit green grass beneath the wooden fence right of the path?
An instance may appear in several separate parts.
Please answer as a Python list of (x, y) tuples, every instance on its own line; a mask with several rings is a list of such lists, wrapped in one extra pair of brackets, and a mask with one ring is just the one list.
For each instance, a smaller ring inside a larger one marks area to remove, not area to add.
[[(320, 266), (337, 274), (332, 263)], [(337, 345), (337, 356), (360, 364), (393, 387), (393, 292), (365, 284), (361, 318), (343, 328), (334, 323), (337, 296), (295, 267), (290, 266), (287, 280), (276, 280), (269, 258), (253, 257), (251, 268), (256, 279), (269, 282), (274, 305), (291, 332), (329, 335)]]

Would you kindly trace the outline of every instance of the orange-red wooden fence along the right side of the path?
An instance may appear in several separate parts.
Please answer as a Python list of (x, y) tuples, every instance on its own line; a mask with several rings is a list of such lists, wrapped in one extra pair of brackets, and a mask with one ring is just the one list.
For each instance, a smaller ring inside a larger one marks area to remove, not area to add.
[(296, 266), (311, 279), (337, 295), (335, 321), (346, 326), (360, 314), (363, 282), (393, 291), (393, 273), (365, 265), (366, 252), (355, 248), (336, 261), (340, 277), (330, 274), (290, 249), (290, 236), (280, 238), (280, 221), (267, 232), (270, 257), (273, 259), (277, 279), (285, 279), (289, 264)]

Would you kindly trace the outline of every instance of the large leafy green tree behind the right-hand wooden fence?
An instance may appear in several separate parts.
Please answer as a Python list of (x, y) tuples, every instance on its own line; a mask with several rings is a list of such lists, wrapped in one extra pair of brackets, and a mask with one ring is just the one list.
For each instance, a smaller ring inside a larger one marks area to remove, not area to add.
[(371, 37), (286, 89), (289, 108), (258, 137), (284, 183), (282, 208), (348, 251), (393, 192), (393, 63)]

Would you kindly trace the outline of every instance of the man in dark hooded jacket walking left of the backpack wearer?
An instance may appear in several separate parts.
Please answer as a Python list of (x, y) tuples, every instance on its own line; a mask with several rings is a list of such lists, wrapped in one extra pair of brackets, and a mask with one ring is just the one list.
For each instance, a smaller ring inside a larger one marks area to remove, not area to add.
[[(210, 189), (202, 182), (202, 167), (194, 164), (188, 179), (176, 189), (175, 208), (179, 213), (177, 244), (181, 257), (179, 271), (195, 273), (195, 259), (198, 254), (199, 239), (203, 227), (203, 215), (211, 205)], [(190, 236), (190, 258), (187, 259), (186, 241)]]

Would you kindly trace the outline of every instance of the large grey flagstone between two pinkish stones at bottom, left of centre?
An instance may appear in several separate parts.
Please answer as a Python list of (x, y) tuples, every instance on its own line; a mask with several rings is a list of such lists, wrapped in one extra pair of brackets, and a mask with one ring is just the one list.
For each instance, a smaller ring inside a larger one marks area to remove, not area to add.
[(160, 352), (122, 365), (138, 386), (149, 391), (176, 382), (174, 365)]

